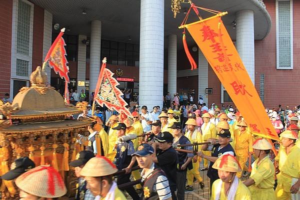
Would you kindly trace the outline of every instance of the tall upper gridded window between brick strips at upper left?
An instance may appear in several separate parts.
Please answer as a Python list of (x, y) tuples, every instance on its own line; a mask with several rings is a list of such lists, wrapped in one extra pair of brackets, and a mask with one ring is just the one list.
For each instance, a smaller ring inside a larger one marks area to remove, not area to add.
[(16, 52), (29, 56), (31, 6), (22, 0), (18, 1)]

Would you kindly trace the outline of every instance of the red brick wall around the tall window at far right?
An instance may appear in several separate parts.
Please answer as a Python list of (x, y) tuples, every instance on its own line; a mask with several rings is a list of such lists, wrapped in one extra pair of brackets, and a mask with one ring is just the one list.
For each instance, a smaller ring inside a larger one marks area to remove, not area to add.
[(255, 41), (255, 87), (259, 92), (260, 74), (264, 74), (264, 105), (268, 108), (293, 107), (300, 104), (300, 1), (293, 0), (293, 69), (276, 69), (276, 9), (274, 0), (264, 0), (271, 16), (272, 27), (269, 34)]

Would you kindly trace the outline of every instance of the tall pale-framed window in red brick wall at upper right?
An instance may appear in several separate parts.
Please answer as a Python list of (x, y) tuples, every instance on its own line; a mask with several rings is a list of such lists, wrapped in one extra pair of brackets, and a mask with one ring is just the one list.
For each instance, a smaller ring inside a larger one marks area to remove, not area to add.
[(292, 0), (276, 0), (276, 68), (293, 68)]

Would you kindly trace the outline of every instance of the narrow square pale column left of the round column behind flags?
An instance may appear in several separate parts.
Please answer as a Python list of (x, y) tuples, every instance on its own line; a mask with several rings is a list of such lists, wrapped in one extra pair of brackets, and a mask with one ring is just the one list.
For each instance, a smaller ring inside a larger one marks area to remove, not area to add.
[(81, 93), (81, 89), (85, 90), (84, 86), (79, 86), (79, 81), (85, 82), (85, 68), (86, 68), (86, 44), (82, 43), (86, 40), (86, 35), (78, 35), (78, 62), (77, 62), (77, 91)]

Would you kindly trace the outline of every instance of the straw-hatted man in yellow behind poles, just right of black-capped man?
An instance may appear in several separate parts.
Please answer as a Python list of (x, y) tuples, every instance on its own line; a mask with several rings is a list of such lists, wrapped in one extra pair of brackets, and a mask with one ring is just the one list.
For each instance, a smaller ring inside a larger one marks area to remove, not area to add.
[[(200, 143), (202, 142), (202, 134), (201, 131), (198, 130), (196, 127), (197, 122), (194, 119), (188, 119), (185, 124), (187, 125), (187, 132), (184, 134), (186, 138), (190, 141), (190, 143)], [(181, 144), (181, 143), (180, 143)], [(198, 146), (200, 148), (200, 146)], [(203, 179), (200, 176), (199, 168), (200, 168), (201, 158), (197, 155), (194, 156), (192, 161), (192, 169), (187, 170), (187, 186), (185, 187), (185, 191), (193, 191), (192, 184), (193, 178), (197, 180), (200, 185), (200, 188), (204, 188)]]

